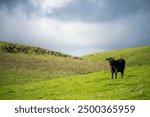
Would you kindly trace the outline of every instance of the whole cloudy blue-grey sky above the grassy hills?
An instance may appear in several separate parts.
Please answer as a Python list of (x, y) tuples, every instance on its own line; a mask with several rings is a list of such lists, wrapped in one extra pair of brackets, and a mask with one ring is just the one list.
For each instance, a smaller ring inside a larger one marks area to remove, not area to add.
[(81, 56), (150, 44), (150, 0), (0, 0), (0, 40)]

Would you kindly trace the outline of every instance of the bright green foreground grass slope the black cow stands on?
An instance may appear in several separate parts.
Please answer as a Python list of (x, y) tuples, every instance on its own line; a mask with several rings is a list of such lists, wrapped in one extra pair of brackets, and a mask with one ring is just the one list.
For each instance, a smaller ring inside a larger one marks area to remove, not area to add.
[[(150, 99), (150, 66), (127, 68), (123, 79), (109, 71), (1, 86), (0, 99)], [(22, 76), (23, 77), (23, 76)]]

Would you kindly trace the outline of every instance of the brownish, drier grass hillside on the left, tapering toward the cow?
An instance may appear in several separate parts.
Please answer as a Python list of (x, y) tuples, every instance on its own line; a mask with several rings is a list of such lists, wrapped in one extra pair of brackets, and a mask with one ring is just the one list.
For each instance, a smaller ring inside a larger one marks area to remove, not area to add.
[(15, 45), (16, 48), (20, 47), (20, 44), (0, 43), (0, 85), (37, 82), (45, 79), (87, 74), (105, 69), (101, 62), (82, 60), (77, 57), (70, 57), (69, 55), (62, 56), (65, 54), (60, 56), (45, 53), (35, 54), (34, 50), (37, 47), (32, 46), (23, 45), (23, 48), (25, 50), (28, 48), (29, 50), (27, 51), (30, 51), (30, 53), (3, 50), (2, 48), (8, 44)]

